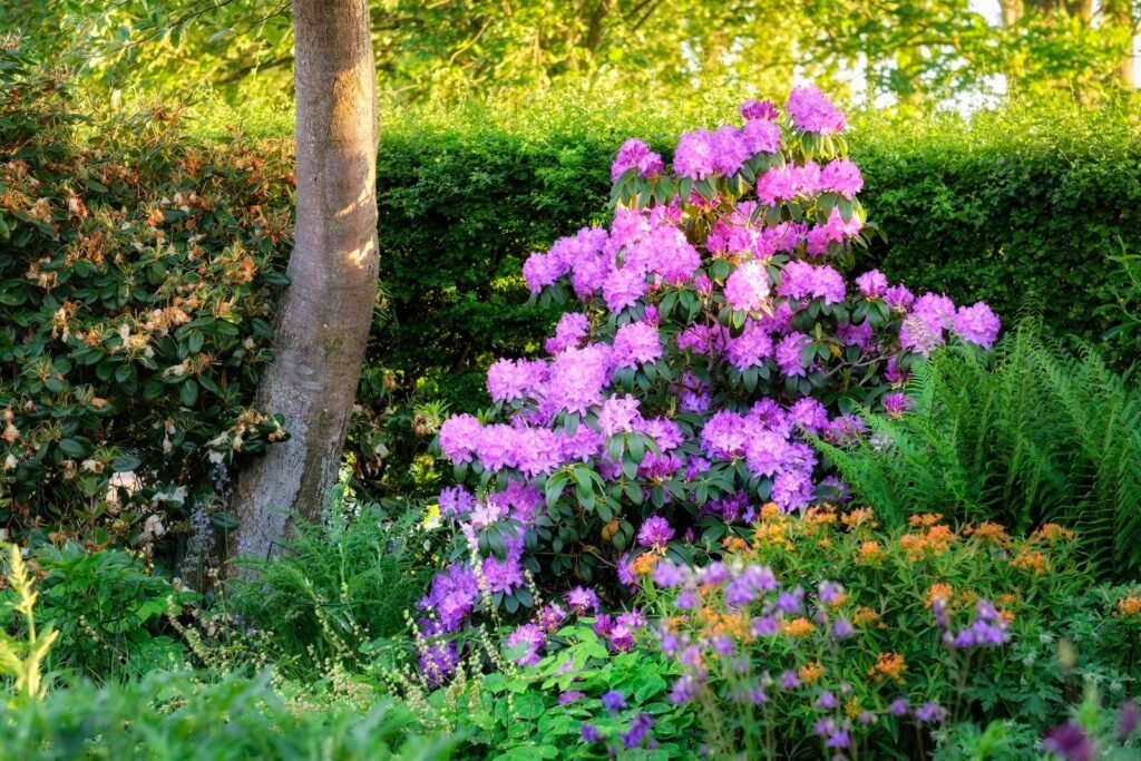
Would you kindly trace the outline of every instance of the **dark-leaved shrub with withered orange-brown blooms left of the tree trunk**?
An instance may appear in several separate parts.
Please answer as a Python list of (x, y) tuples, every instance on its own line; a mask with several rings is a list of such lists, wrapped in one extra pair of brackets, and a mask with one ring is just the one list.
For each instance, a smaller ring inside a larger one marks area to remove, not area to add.
[[(169, 526), (211, 463), (284, 436), (251, 405), (289, 154), (195, 145), (162, 108), (87, 120), (70, 92), (0, 51), (0, 520), (136, 537), (123, 507), (165, 503)], [(110, 495), (116, 472), (138, 480)]]

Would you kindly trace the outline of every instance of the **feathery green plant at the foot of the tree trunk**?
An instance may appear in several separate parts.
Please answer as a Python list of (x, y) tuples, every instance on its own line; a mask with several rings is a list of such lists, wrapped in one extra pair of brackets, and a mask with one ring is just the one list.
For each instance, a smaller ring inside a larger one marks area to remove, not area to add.
[(357, 648), (406, 632), (405, 612), (427, 590), (434, 541), (419, 511), (395, 516), (375, 504), (346, 504), (343, 487), (321, 524), (298, 521), (272, 560), (243, 560), (256, 572), (235, 577), (227, 607), (306, 673), (325, 659), (355, 661)]

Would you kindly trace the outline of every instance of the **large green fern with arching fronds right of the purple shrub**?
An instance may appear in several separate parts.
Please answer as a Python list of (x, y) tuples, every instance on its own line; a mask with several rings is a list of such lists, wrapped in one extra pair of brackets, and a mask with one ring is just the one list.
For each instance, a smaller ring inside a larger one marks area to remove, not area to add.
[(869, 416), (856, 448), (819, 443), (860, 500), (916, 512), (1073, 526), (1101, 570), (1141, 570), (1141, 394), (1092, 351), (1074, 357), (1021, 325), (993, 355), (965, 347), (913, 367), (915, 410)]

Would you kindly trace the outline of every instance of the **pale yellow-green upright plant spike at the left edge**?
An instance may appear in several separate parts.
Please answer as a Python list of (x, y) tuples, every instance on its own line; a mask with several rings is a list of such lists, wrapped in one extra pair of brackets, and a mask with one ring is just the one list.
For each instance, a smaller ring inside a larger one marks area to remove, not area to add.
[(15, 594), (13, 610), (23, 617), (23, 639), (0, 629), (0, 673), (14, 679), (16, 698), (39, 699), (47, 693), (41, 665), (59, 632), (35, 631), (35, 598), (38, 592), (27, 566), (15, 544), (8, 545), (8, 586)]

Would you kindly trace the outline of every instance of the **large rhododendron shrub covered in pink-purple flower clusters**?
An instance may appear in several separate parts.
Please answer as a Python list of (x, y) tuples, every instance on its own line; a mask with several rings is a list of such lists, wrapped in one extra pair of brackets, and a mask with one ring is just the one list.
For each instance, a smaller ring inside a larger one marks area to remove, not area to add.
[(493, 410), (440, 429), (460, 531), (423, 600), (432, 631), (531, 606), (525, 569), (613, 599), (639, 562), (691, 562), (762, 503), (840, 499), (810, 437), (859, 436), (860, 405), (898, 411), (909, 364), (952, 337), (995, 340), (985, 305), (849, 276), (873, 228), (817, 89), (741, 113), (669, 162), (626, 141), (610, 225), (524, 265), (536, 301), (574, 309), (545, 357), (492, 365)]

